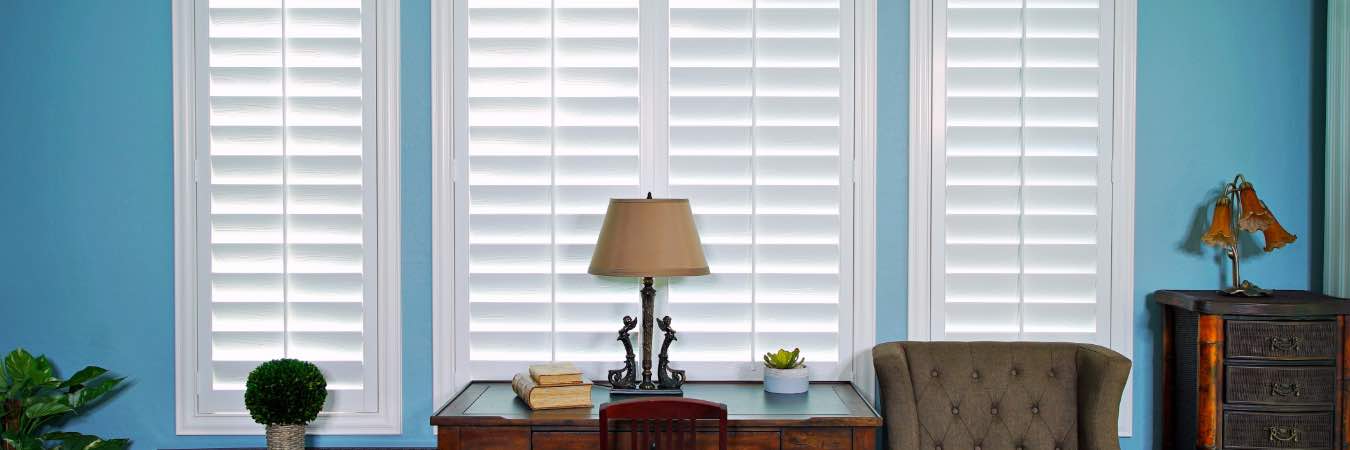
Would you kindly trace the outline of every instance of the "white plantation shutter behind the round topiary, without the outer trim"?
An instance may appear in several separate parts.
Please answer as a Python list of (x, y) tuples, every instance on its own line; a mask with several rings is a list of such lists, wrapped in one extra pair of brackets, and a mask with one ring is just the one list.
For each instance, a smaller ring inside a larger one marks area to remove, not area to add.
[(198, 1), (198, 412), (273, 358), (377, 408), (374, 1)]

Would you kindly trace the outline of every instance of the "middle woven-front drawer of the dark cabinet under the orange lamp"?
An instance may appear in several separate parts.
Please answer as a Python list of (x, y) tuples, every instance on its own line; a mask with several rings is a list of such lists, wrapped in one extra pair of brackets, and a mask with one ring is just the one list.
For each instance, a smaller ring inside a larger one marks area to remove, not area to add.
[(1332, 405), (1336, 369), (1228, 366), (1224, 400), (1235, 404)]

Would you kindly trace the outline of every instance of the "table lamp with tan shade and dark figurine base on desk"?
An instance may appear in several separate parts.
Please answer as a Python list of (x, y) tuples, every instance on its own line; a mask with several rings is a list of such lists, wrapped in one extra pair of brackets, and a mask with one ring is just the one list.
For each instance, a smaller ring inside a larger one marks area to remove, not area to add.
[(618, 341), (626, 357), (622, 369), (609, 372), (612, 395), (680, 395), (684, 370), (670, 368), (667, 350), (675, 341), (671, 318), (660, 320), (666, 332), (662, 343), (656, 381), (652, 381), (652, 304), (656, 289), (652, 277), (687, 277), (707, 274), (703, 246), (698, 241), (694, 214), (686, 199), (610, 199), (591, 255), (590, 274), (608, 277), (641, 277), (643, 288), (643, 373), (637, 378), (633, 342), (629, 331), (637, 326), (632, 316), (624, 316)]

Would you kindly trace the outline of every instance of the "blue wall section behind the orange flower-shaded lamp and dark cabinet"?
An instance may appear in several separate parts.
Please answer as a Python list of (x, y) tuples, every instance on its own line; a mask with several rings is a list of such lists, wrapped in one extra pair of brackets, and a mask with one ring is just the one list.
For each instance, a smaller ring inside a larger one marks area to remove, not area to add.
[[(1299, 242), (1257, 249), (1242, 273), (1265, 286), (1322, 289), (1326, 4), (1141, 1), (1134, 265), (1135, 438), (1161, 414), (1153, 361), (1157, 289), (1220, 285), (1220, 257), (1195, 236), (1203, 193), (1242, 172)], [(1206, 219), (1207, 220), (1207, 219)]]

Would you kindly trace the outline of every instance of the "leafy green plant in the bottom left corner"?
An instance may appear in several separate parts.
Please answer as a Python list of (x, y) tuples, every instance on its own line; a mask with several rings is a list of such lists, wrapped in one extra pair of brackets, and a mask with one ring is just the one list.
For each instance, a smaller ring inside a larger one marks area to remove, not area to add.
[(5, 450), (126, 449), (131, 441), (47, 430), (116, 392), (122, 378), (107, 374), (103, 368), (88, 366), (61, 380), (46, 355), (34, 357), (23, 349), (11, 351), (0, 368), (0, 399), (4, 400), (0, 446)]

